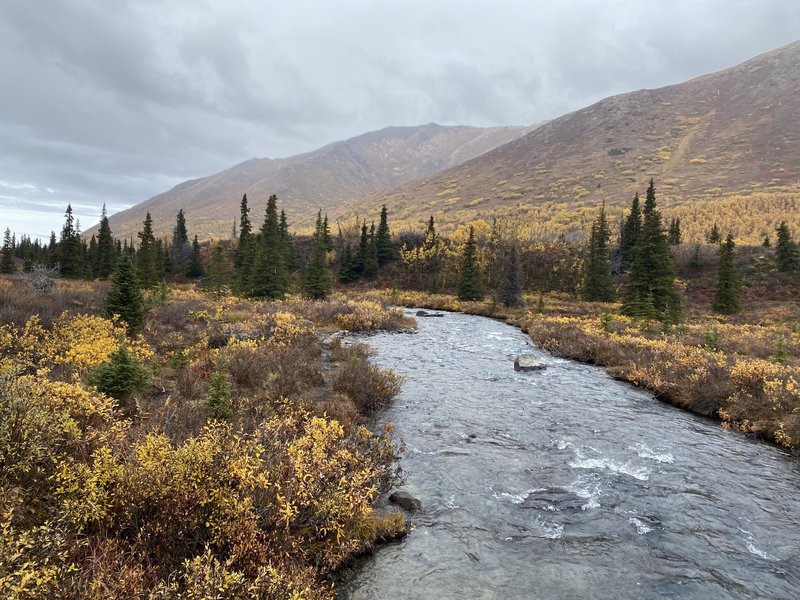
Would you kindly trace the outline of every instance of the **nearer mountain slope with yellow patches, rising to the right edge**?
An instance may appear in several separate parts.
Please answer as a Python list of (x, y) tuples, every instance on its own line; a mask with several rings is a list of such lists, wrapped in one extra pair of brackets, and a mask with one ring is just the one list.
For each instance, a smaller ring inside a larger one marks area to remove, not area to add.
[(651, 177), (662, 207), (798, 198), (798, 115), (795, 42), (685, 83), (607, 98), (337, 216), (375, 214), (385, 203), (393, 222), (413, 227), (431, 214), (445, 226), (505, 215), (557, 235), (584, 227), (602, 201), (628, 206)]

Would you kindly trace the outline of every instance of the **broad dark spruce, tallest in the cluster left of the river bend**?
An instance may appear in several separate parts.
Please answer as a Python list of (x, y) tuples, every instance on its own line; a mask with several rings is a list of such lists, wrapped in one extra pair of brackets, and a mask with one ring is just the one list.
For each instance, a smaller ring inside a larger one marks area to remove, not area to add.
[(250, 273), (249, 293), (255, 297), (282, 298), (289, 285), (286, 245), (281, 240), (277, 202), (278, 197), (274, 194), (267, 200), (264, 224)]

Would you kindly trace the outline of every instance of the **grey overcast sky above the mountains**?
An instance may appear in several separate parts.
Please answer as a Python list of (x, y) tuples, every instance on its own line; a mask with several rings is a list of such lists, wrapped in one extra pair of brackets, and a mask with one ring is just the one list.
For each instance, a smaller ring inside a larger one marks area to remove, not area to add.
[(799, 35), (797, 0), (0, 0), (0, 227), (388, 125), (529, 125)]

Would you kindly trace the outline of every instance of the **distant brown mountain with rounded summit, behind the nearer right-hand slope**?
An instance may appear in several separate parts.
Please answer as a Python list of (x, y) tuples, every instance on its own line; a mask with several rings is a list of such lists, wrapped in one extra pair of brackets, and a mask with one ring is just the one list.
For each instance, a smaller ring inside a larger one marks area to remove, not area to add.
[[(519, 137), (524, 127), (388, 127), (289, 158), (254, 158), (209, 177), (181, 183), (109, 217), (114, 235), (130, 237), (150, 212), (157, 235), (171, 233), (182, 208), (191, 235), (230, 237), (247, 194), (255, 227), (267, 197), (277, 194), (290, 227), (310, 227), (317, 211), (427, 177)], [(86, 232), (91, 235), (93, 230)]]

